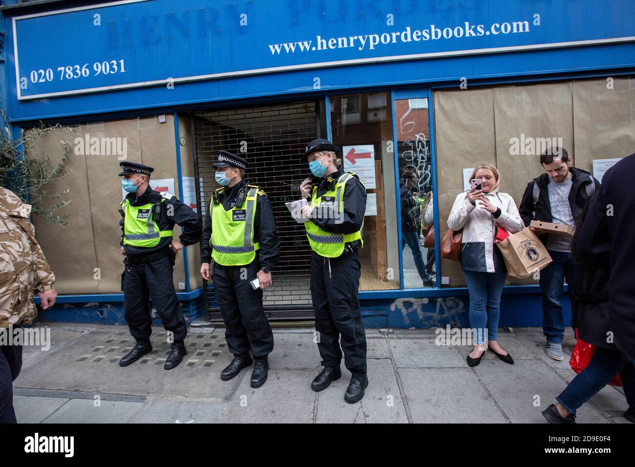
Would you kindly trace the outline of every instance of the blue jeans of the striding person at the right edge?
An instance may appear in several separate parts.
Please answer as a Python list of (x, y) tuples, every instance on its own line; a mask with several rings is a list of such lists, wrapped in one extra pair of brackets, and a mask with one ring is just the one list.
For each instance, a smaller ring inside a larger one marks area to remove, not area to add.
[(596, 347), (589, 366), (573, 378), (556, 400), (575, 414), (583, 403), (596, 395), (618, 373), (624, 386), (626, 402), (630, 407), (635, 407), (635, 368), (624, 361), (622, 352), (601, 347)]

